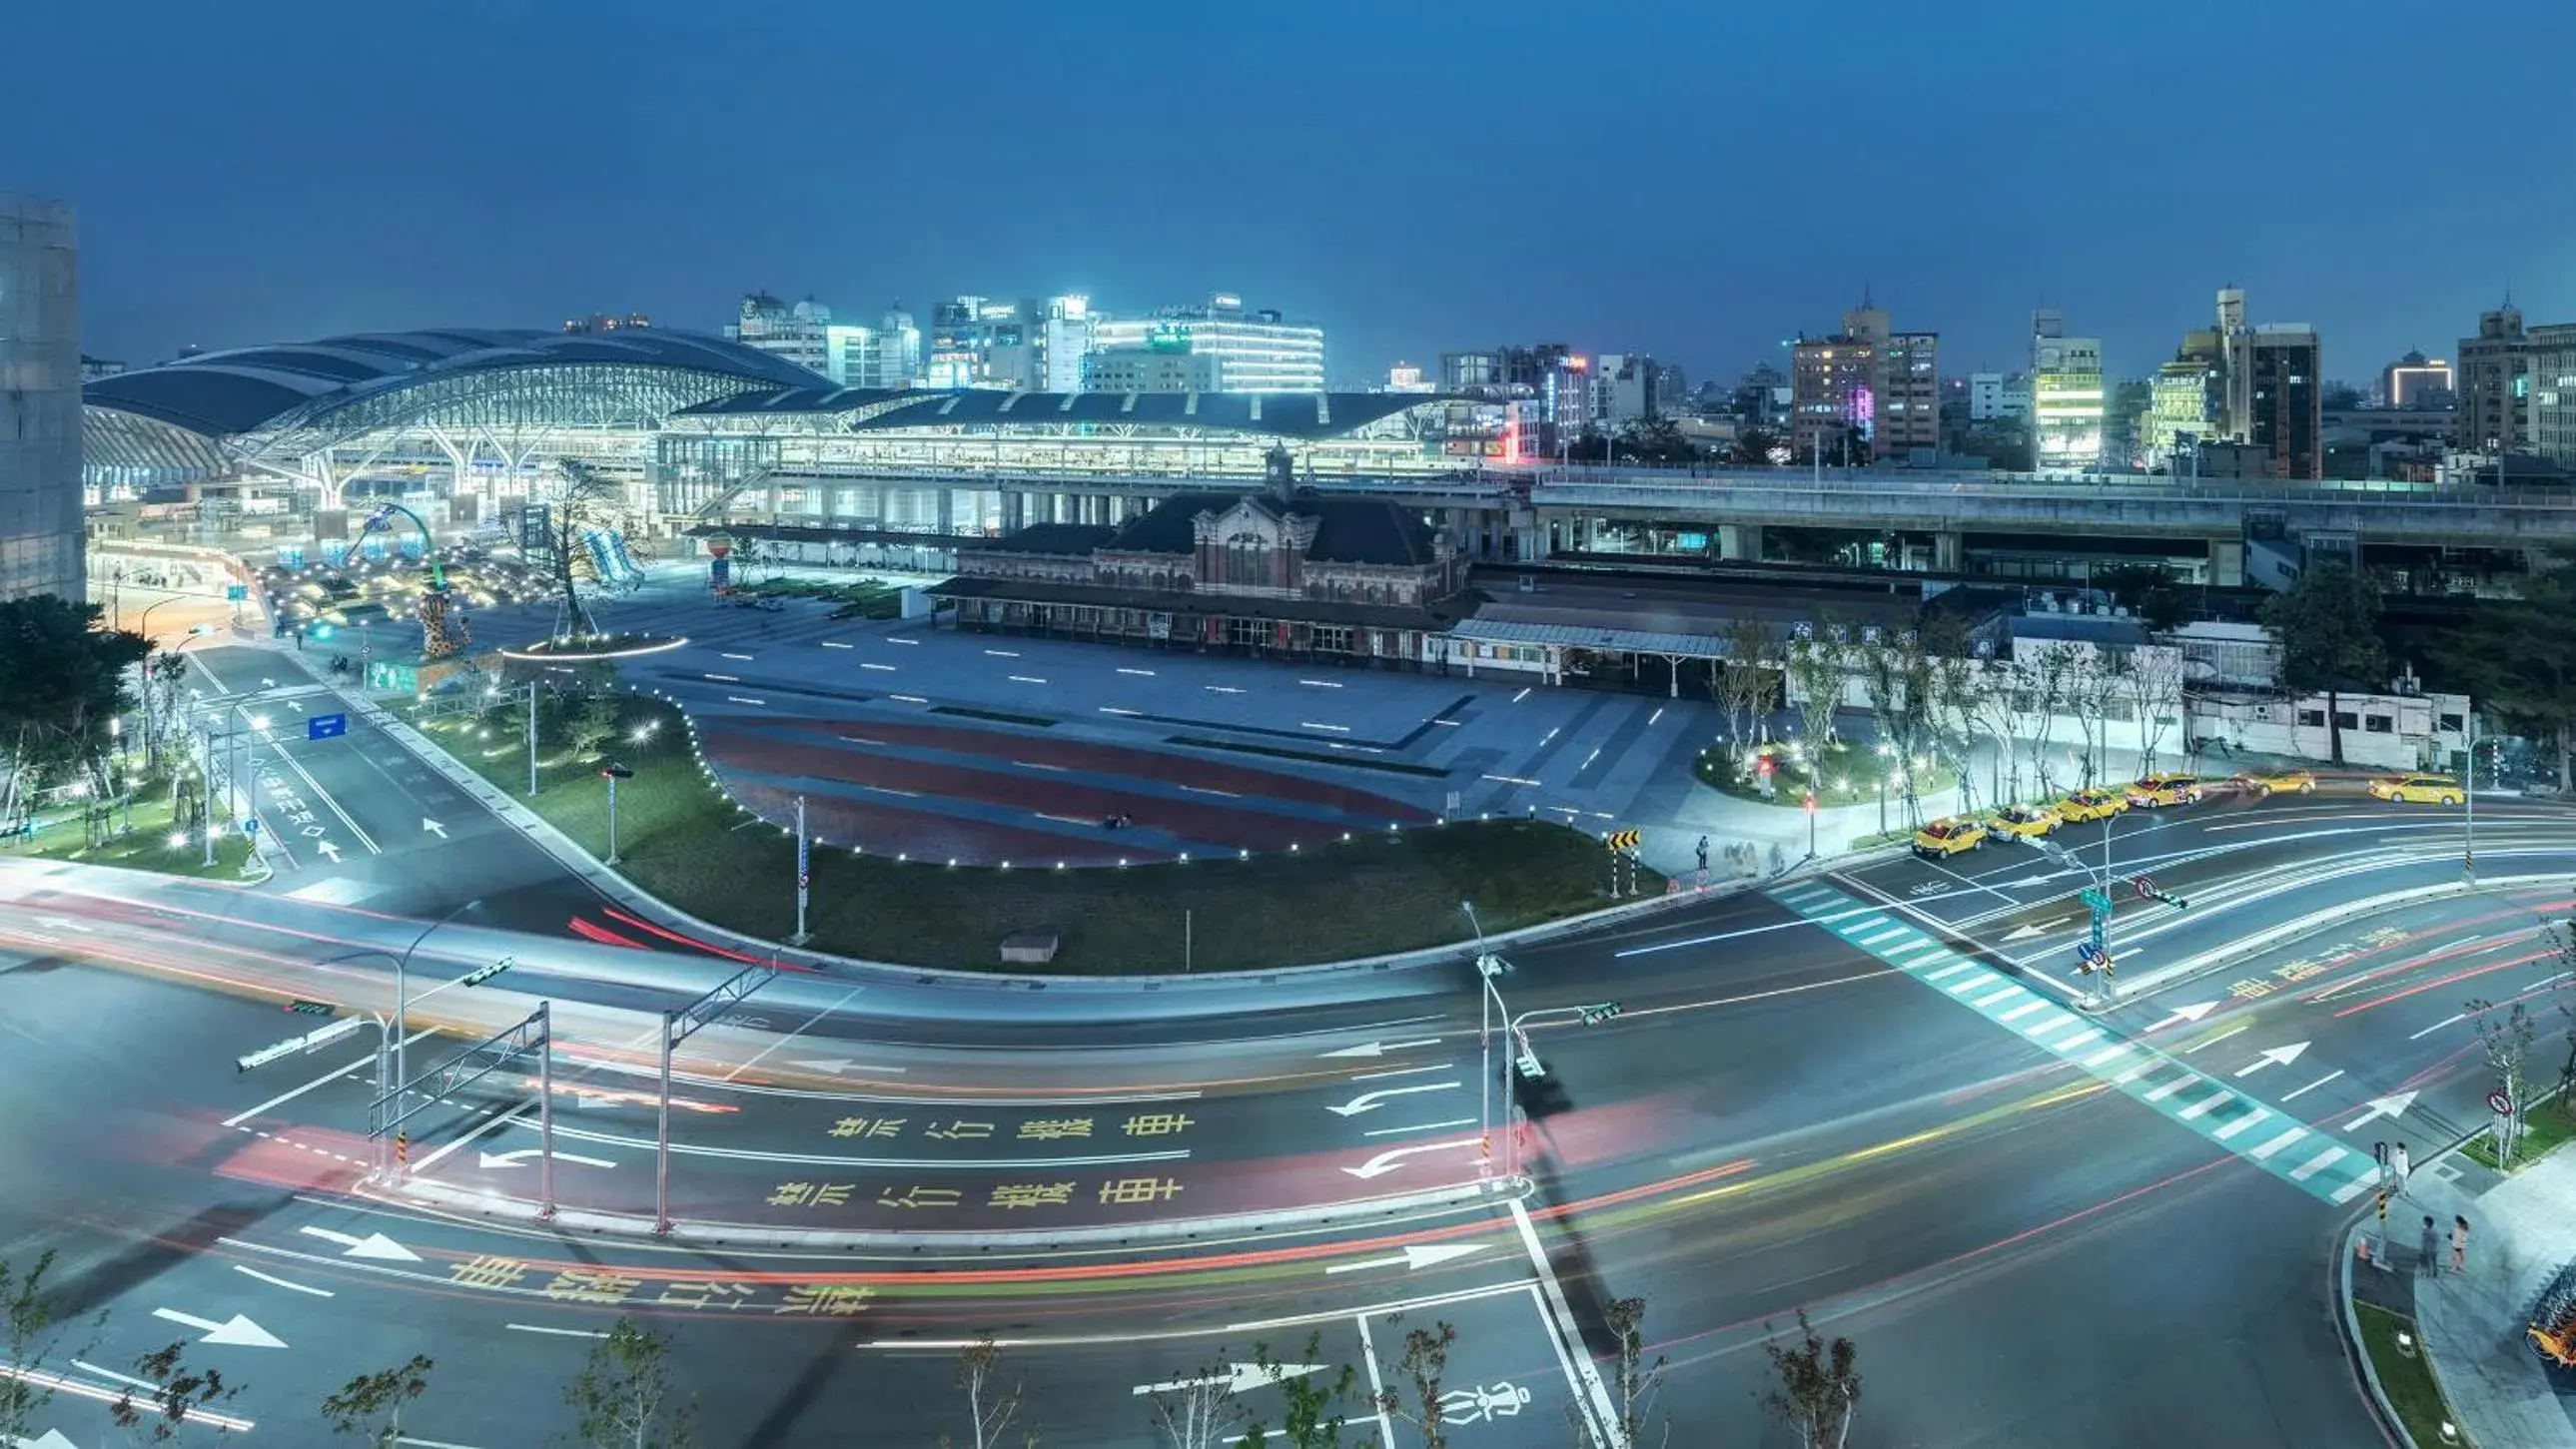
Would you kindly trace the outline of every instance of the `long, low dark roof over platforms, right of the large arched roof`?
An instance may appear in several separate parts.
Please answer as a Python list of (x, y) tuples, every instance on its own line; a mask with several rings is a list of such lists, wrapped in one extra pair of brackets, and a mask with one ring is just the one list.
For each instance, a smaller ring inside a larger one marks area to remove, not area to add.
[(922, 391), (922, 389), (783, 389), (719, 396), (672, 417), (842, 417), (850, 432), (1066, 425), (1203, 427), (1319, 443), (1342, 438), (1427, 394), (1373, 391)]

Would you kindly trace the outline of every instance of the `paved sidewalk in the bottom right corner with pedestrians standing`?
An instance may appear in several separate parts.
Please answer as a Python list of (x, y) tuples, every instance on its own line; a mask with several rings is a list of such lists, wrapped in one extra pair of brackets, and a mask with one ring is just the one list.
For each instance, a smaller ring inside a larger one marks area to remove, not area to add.
[[(2437, 1171), (2442, 1168), (2442, 1171)], [(2455, 1168), (2455, 1171), (2450, 1171)], [(2439, 1228), (2439, 1274), (2419, 1274), (2424, 1215)], [(2450, 1220), (2468, 1217), (2468, 1271), (2450, 1271)], [(2362, 1217), (2344, 1238), (2372, 1228)], [(2576, 1377), (2550, 1369), (2522, 1331), (2540, 1289), (2576, 1259), (2576, 1150), (2558, 1150), (2499, 1179), (2442, 1156), (2414, 1171), (2388, 1204), (2393, 1271), (2414, 1282), (2414, 1320), (2460, 1431), (2478, 1449), (2576, 1449)], [(2385, 1300), (2378, 1266), (2352, 1266), (2352, 1292)], [(2349, 1325), (2347, 1325), (2349, 1328)], [(2429, 1449), (2429, 1446), (2424, 1446)]]

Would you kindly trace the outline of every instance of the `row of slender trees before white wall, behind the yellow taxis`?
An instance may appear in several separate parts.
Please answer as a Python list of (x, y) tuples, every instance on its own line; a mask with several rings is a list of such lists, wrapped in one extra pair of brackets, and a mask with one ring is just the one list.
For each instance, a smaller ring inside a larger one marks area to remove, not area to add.
[[(1971, 638), (1955, 615), (1929, 615), (1911, 631), (1824, 618), (1788, 641), (1739, 620), (1723, 651), (1710, 695), (1739, 759), (1767, 744), (1767, 721), (1785, 695), (1801, 757), (1824, 770), (1844, 744), (1834, 721), (1857, 682), (1878, 749), (1940, 762), (1960, 780), (1965, 808), (1978, 808), (1981, 795), (2002, 803), (2097, 785), (2112, 775), (2115, 752), (2133, 752), (2138, 770), (2154, 770), (2182, 726), (2182, 654), (2164, 643), (2056, 641), (2014, 659)], [(1901, 780), (1906, 824), (1919, 826), (1924, 770), (1904, 770)]]

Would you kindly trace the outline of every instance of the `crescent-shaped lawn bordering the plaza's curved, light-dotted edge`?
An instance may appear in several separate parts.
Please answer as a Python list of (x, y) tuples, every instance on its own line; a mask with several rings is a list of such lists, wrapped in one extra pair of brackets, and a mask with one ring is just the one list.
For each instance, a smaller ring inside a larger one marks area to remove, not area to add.
[[(471, 721), (422, 731), (513, 795), (528, 764), (515, 731), (477, 739)], [(701, 919), (781, 939), (796, 929), (796, 842), (734, 806), (701, 772), (685, 721), (634, 697), (616, 746), (634, 777), (618, 785), (618, 852), (644, 891)], [(608, 847), (605, 780), (595, 762), (549, 744), (538, 813), (598, 854)], [(1641, 870), (1643, 891), (1664, 880)], [(1422, 826), (1365, 834), (1301, 854), (1095, 870), (979, 870), (814, 849), (814, 947), (840, 955), (999, 970), (1012, 932), (1054, 932), (1051, 970), (1069, 975), (1182, 970), (1182, 919), (1195, 970), (1252, 970), (1453, 942), (1458, 901), (1499, 932), (1607, 903), (1600, 842), (1546, 821)], [(1030, 968), (1015, 968), (1030, 970)]]

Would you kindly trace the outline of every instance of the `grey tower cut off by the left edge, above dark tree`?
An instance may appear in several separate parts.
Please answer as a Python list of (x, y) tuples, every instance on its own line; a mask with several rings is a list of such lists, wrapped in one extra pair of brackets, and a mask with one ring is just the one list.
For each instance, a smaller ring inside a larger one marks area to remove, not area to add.
[(72, 208), (0, 196), (0, 600), (88, 597)]

